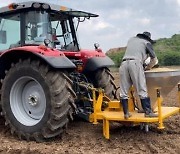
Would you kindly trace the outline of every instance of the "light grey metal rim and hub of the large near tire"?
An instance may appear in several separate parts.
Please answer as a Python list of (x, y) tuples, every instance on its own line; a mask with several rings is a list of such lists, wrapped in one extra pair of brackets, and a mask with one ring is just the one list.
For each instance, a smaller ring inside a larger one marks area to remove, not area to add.
[(20, 123), (33, 126), (43, 118), (46, 110), (44, 89), (34, 78), (21, 77), (11, 88), (10, 105)]

